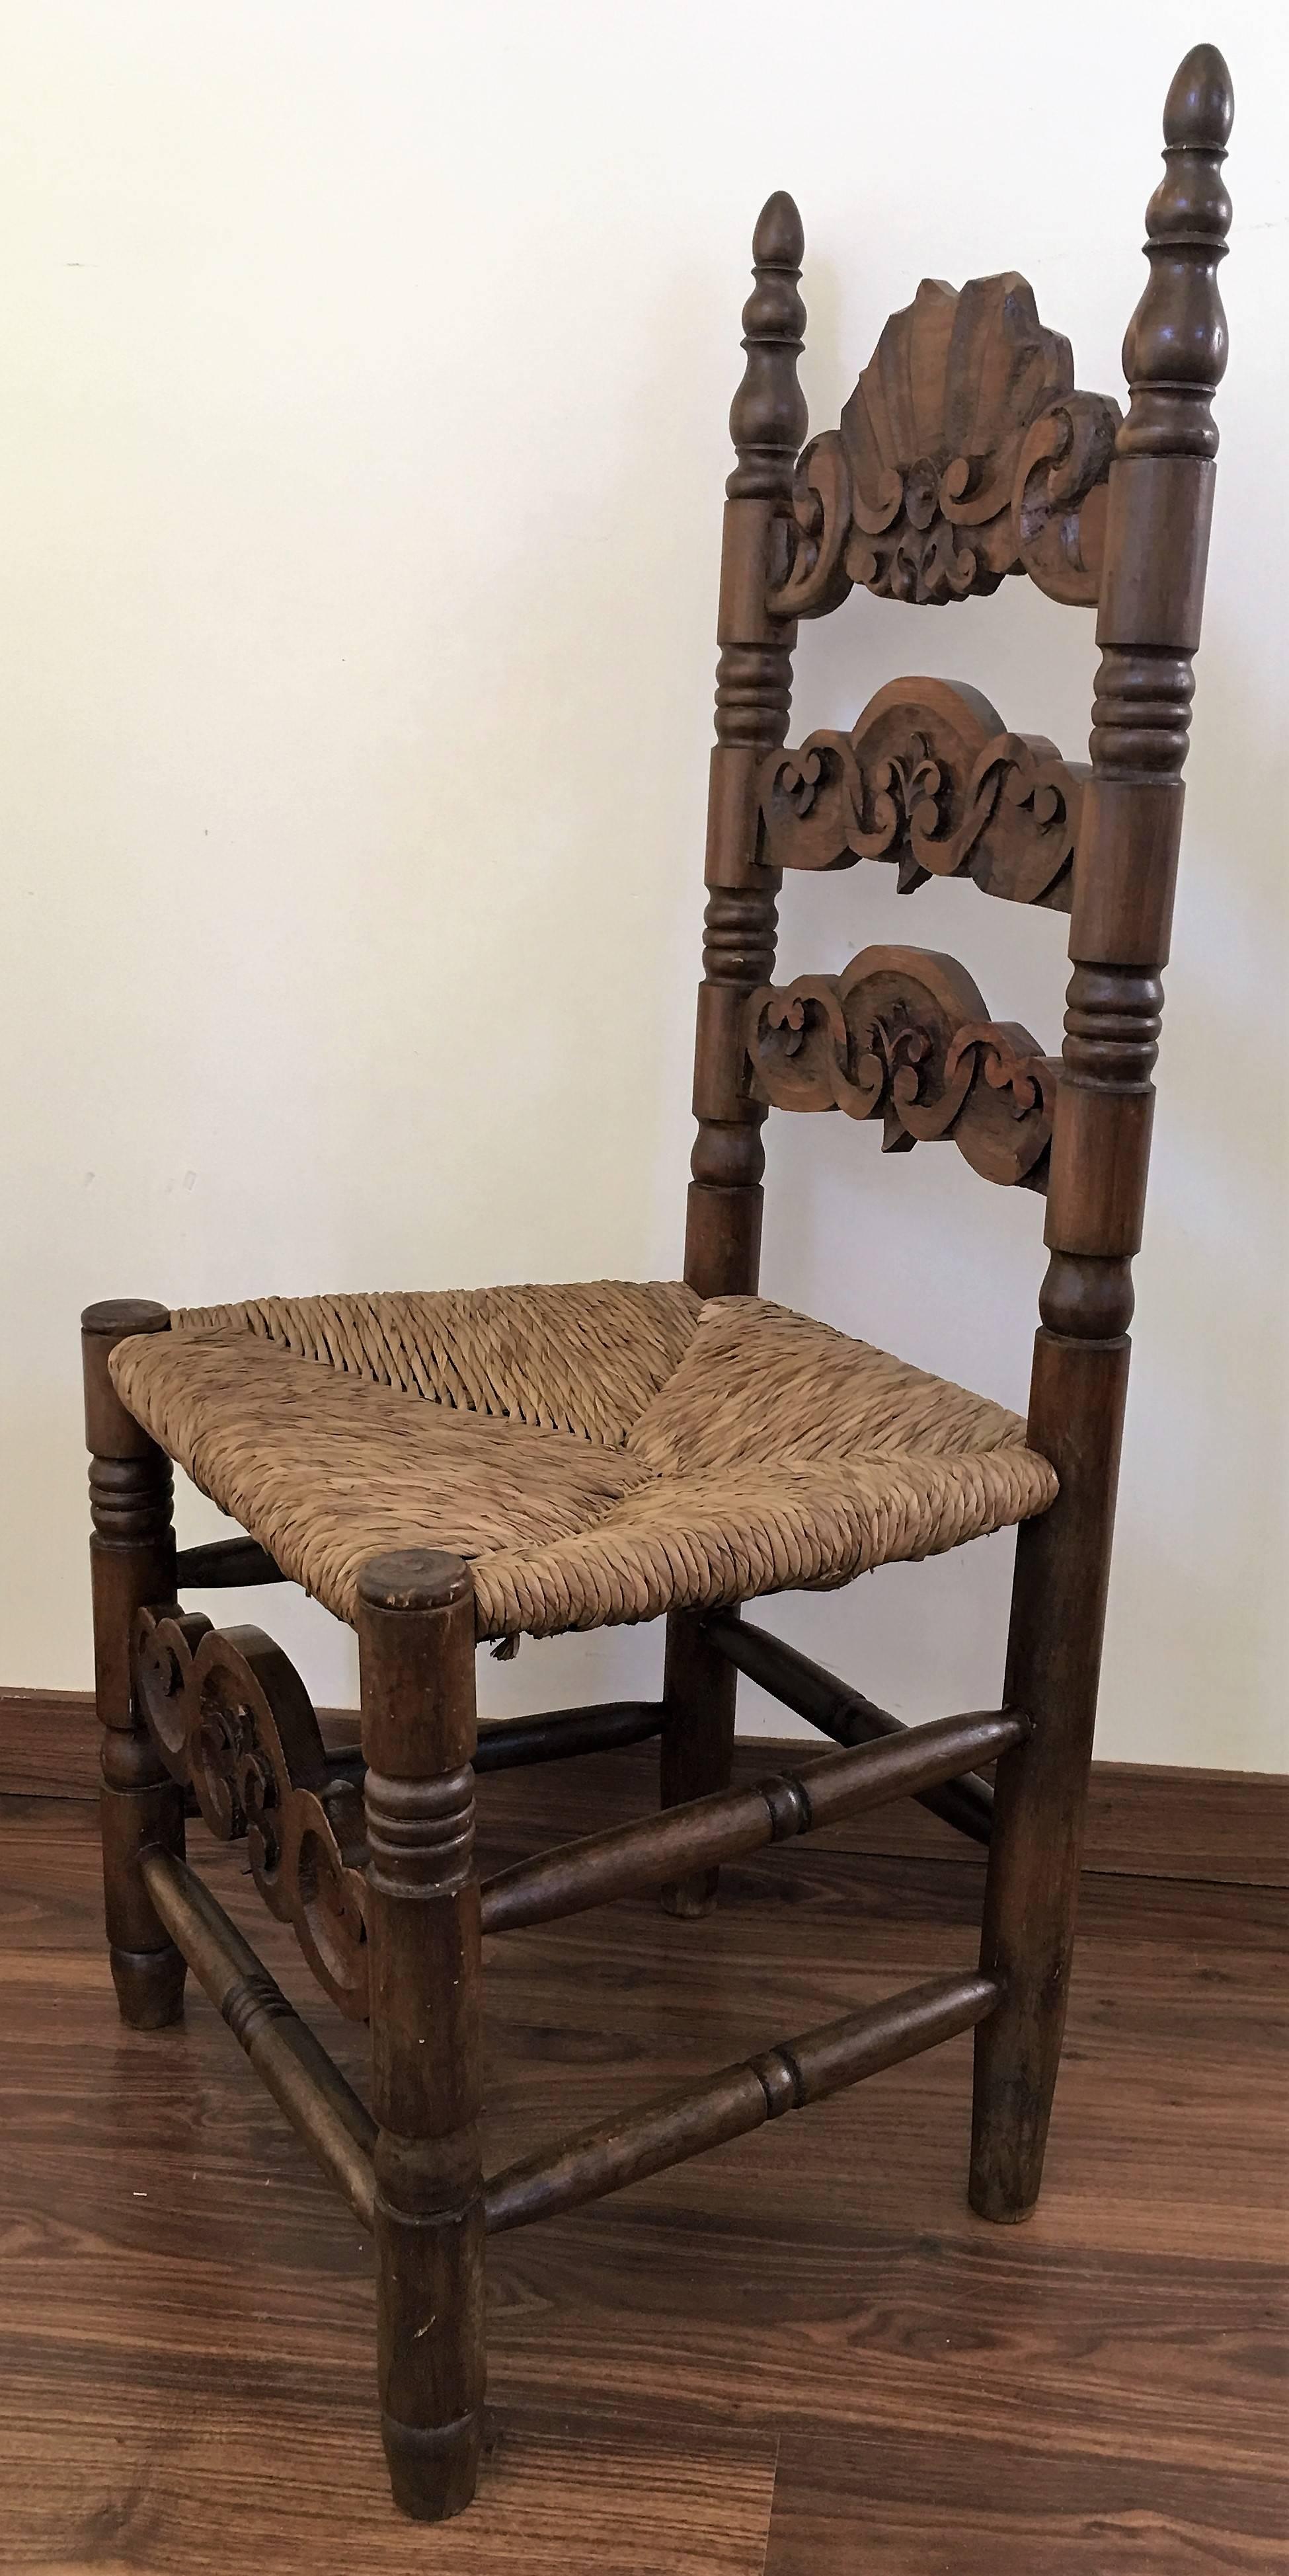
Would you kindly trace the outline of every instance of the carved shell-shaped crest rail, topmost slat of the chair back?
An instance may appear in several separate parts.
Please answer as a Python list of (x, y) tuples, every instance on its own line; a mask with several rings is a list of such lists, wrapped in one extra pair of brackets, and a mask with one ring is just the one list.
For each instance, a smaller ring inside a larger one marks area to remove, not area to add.
[(1070, 343), (1013, 270), (962, 291), (923, 278), (892, 314), (840, 425), (802, 451), (781, 618), (858, 582), (941, 608), (1029, 572), (1096, 605), (1119, 404), (1075, 389)]

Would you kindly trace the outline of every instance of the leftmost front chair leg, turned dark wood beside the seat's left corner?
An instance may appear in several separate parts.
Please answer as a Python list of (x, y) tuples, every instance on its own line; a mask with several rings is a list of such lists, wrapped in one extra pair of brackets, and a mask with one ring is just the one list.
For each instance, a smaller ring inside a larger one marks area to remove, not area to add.
[(129, 1631), (147, 1602), (175, 1597), (173, 1473), (126, 1414), (111, 1378), (116, 1342), (168, 1332), (165, 1306), (88, 1306), (80, 1327), (90, 1445), (90, 1582), (98, 1723), (103, 1728), (103, 1906), (121, 2020), (165, 2030), (183, 2017), (186, 1960), (139, 1875), (142, 1852), (183, 1852), (183, 1790), (170, 1780), (129, 1687)]

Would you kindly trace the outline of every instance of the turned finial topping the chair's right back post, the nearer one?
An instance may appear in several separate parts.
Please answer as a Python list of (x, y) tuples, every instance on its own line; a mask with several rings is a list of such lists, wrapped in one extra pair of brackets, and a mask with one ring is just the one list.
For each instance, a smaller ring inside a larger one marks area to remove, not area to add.
[(1165, 175), (1145, 214), (1150, 283), (1124, 340), (1132, 407), (1119, 456), (1214, 456), (1209, 410), (1227, 366), (1217, 263), (1227, 252), (1230, 196), (1222, 162), (1235, 113), (1227, 64), (1196, 44), (1163, 111)]

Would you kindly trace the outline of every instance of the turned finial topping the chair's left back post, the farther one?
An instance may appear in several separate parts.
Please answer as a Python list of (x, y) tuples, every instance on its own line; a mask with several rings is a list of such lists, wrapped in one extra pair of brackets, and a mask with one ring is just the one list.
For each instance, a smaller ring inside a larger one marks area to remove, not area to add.
[(791, 492), (791, 466), (809, 425), (797, 384), (804, 337), (804, 304), (797, 294), (802, 258), (802, 216), (786, 188), (776, 188), (753, 232), (755, 286), (742, 307), (748, 366), (730, 404), (730, 438), (740, 459), (724, 487), (732, 500), (786, 500)]

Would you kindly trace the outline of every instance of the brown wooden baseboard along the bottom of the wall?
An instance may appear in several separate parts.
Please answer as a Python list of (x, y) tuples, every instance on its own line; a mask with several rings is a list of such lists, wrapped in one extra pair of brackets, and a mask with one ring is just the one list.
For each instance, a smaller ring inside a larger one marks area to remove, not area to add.
[[(335, 1749), (358, 1741), (348, 1708), (320, 1710)], [(820, 1752), (822, 1752), (820, 1739)], [(657, 1759), (652, 1747), (593, 1754), (598, 1762)], [(802, 1739), (742, 1736), (737, 1772), (755, 1777), (802, 1759)], [(98, 1728), (80, 1690), (0, 1690), (0, 1795), (93, 1798)], [(902, 1801), (833, 1829), (856, 1852), (980, 1862), (982, 1855), (926, 1808)], [(1188, 1878), (1217, 1886), (1289, 1886), (1289, 1777), (1281, 1772), (1183, 1770), (1163, 1762), (1093, 1762), (1085, 1868), (1114, 1878)]]

